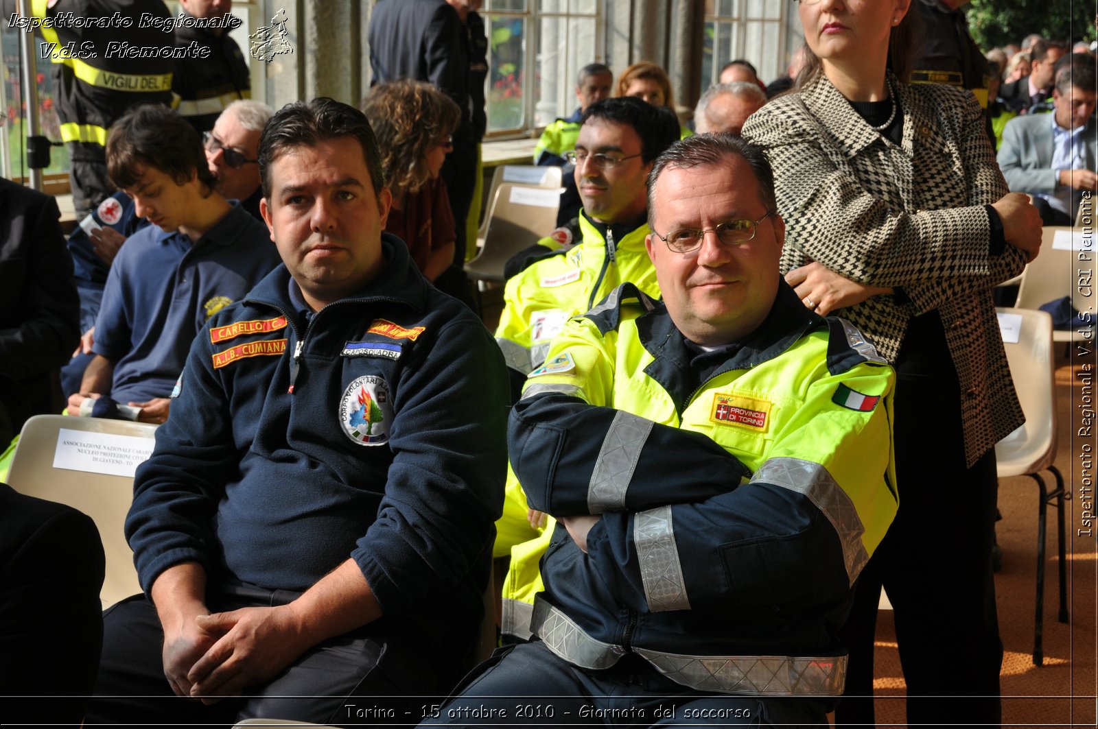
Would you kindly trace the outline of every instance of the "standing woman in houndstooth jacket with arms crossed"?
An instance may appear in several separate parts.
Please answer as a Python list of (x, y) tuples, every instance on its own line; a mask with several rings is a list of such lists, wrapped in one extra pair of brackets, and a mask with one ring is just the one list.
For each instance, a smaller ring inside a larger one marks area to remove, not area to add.
[(809, 63), (743, 136), (774, 168), (786, 280), (806, 306), (870, 336), (897, 372), (899, 514), (855, 591), (837, 722), (873, 725), (883, 583), (908, 721), (995, 726), (994, 447), (1022, 414), (990, 292), (1037, 256), (1041, 220), (1007, 192), (973, 94), (904, 82), (910, 2), (800, 0)]

